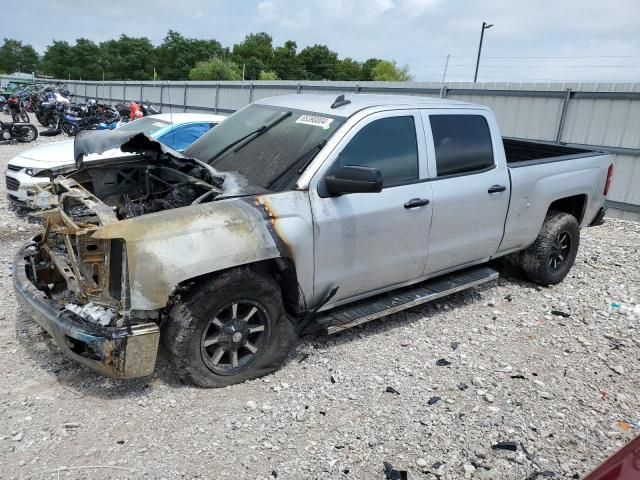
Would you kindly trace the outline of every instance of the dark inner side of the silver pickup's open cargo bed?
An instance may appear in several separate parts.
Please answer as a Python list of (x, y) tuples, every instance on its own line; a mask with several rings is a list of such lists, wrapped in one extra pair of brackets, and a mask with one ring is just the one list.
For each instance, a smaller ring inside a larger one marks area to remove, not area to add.
[(517, 138), (503, 137), (504, 153), (509, 167), (524, 167), (538, 163), (559, 162), (574, 158), (603, 155), (602, 152), (584, 148), (569, 147), (556, 143), (534, 142)]

